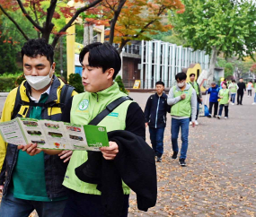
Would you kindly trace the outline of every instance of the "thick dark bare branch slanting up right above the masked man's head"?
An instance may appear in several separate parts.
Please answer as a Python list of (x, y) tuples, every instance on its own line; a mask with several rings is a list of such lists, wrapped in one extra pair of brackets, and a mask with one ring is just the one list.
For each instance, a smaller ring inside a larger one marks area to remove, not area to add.
[(78, 17), (78, 15), (80, 13), (83, 13), (84, 11), (90, 9), (91, 7), (95, 6), (96, 4), (99, 4), (100, 2), (102, 2), (102, 0), (95, 0), (93, 3), (88, 4), (82, 8), (80, 8), (79, 10), (77, 10), (75, 12), (75, 15), (71, 18), (71, 20), (69, 22), (66, 23), (66, 25), (58, 31), (58, 34), (55, 36), (55, 38), (52, 41), (52, 47), (55, 48), (55, 46), (57, 45), (57, 40), (59, 39), (59, 37), (61, 36), (61, 32), (65, 32), (71, 25), (73, 22), (75, 22), (75, 19)]

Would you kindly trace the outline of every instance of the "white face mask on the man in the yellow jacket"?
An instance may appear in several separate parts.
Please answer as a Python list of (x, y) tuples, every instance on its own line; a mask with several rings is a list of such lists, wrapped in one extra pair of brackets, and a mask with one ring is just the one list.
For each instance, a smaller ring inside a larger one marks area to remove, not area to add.
[[(51, 73), (52, 67), (50, 68), (49, 74)], [(31, 87), (37, 91), (45, 88), (52, 78), (49, 77), (49, 74), (46, 76), (32, 76), (25, 75), (27, 82), (31, 85)]]

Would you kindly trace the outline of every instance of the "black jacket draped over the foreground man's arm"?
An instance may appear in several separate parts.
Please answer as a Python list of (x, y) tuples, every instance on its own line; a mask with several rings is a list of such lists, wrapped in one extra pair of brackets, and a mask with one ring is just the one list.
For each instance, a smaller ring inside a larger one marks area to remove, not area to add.
[(88, 152), (88, 161), (75, 169), (76, 176), (98, 184), (105, 216), (119, 217), (122, 211), (122, 180), (137, 194), (137, 208), (147, 211), (157, 197), (154, 151), (142, 137), (128, 131), (116, 130), (108, 135), (119, 145), (115, 160), (104, 160), (102, 152)]

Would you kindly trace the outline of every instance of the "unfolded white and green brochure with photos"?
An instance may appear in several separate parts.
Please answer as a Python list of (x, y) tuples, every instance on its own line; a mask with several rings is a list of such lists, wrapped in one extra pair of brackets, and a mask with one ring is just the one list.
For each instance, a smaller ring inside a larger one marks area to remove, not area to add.
[(4, 142), (16, 145), (37, 143), (41, 149), (100, 151), (108, 147), (106, 127), (16, 117), (0, 123)]

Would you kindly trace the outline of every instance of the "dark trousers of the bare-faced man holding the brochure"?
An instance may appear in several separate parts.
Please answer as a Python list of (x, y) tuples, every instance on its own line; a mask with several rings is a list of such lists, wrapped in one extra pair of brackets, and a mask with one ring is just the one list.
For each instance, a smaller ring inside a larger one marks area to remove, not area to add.
[[(115, 196), (115, 195), (113, 195)], [(120, 217), (128, 216), (128, 197), (124, 195)], [(105, 217), (102, 195), (88, 195), (70, 190), (62, 217)]]

